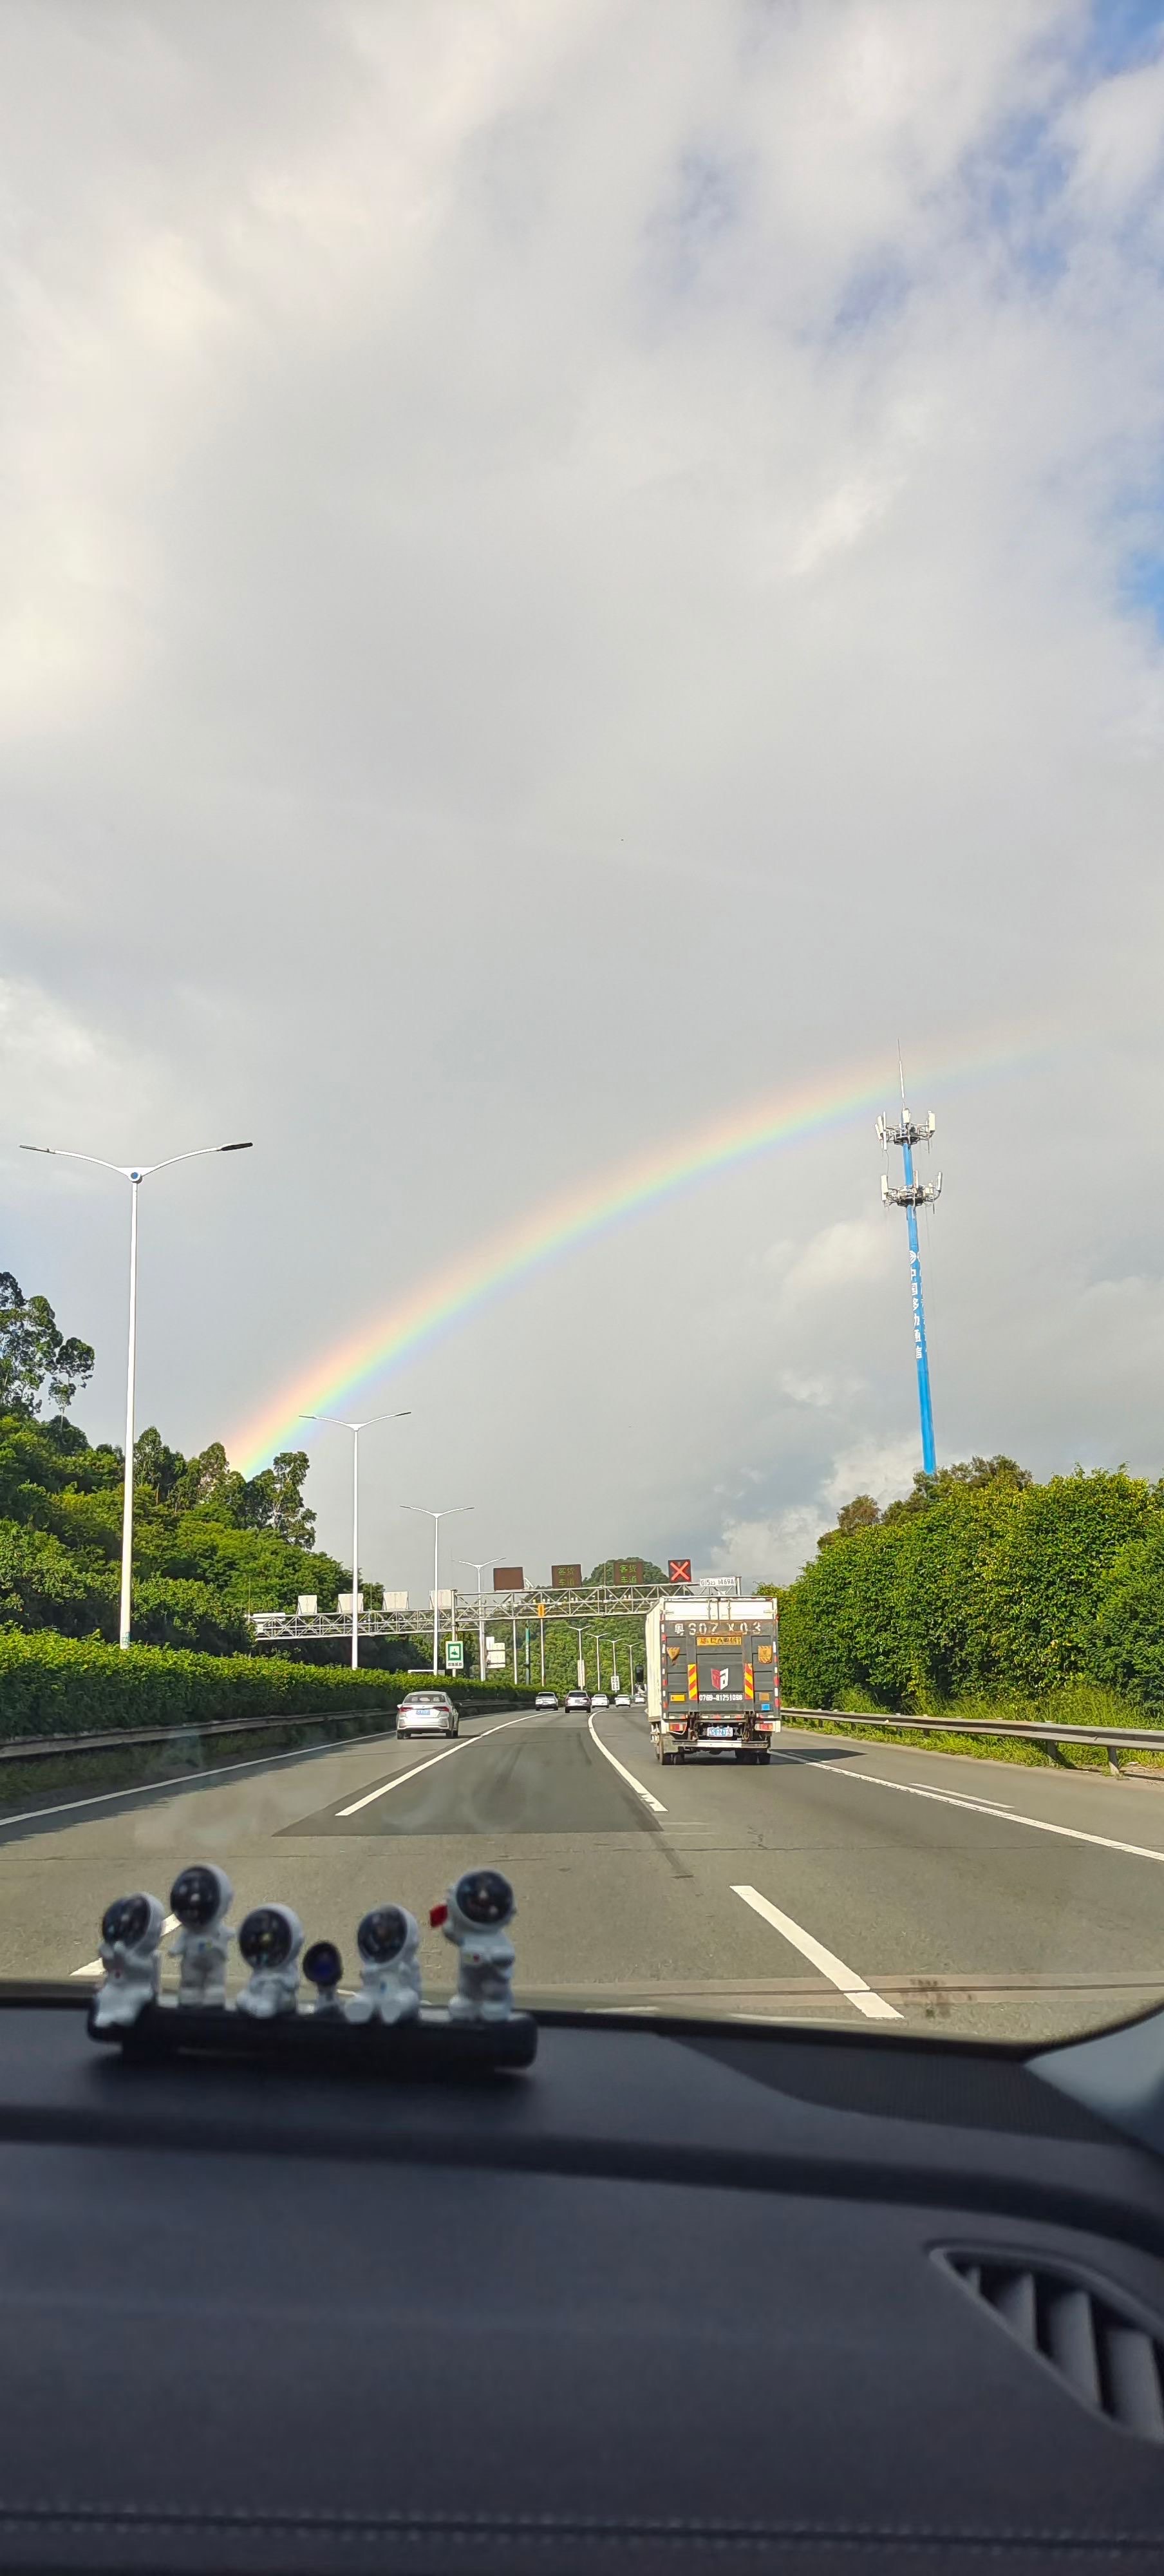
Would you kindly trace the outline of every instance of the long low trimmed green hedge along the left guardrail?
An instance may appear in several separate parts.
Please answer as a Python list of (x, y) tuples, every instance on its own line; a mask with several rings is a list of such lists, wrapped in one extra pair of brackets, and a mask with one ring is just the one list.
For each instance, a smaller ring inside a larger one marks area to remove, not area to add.
[[(206, 1726), (211, 1718), (394, 1713), (430, 1672), (353, 1672), (258, 1654), (191, 1654), (170, 1646), (103, 1646), (88, 1638), (0, 1633), (0, 1739), (75, 1736), (113, 1726)], [(443, 1687), (443, 1685), (440, 1685)], [(512, 1682), (456, 1682), (461, 1713), (530, 1708)]]

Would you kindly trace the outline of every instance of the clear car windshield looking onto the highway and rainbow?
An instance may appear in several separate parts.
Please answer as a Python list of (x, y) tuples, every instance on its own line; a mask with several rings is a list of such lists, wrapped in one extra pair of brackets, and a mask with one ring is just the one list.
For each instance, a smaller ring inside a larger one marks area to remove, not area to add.
[(0, 1981), (1164, 1999), (1161, 46), (5, 8)]

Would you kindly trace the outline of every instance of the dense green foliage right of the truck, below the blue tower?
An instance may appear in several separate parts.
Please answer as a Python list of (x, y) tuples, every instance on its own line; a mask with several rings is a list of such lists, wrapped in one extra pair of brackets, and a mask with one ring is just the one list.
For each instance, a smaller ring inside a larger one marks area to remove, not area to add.
[(780, 1592), (791, 1705), (945, 1708), (1102, 1682), (1164, 1708), (1164, 1484), (1097, 1468), (1048, 1484), (1012, 1458), (858, 1497)]

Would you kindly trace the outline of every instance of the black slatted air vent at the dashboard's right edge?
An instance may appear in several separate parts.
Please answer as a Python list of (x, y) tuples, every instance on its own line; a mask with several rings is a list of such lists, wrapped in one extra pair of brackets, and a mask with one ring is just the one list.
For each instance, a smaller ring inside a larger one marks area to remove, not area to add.
[(1092, 2414), (1164, 2442), (1164, 2344), (1071, 2272), (945, 2249), (937, 2257)]

